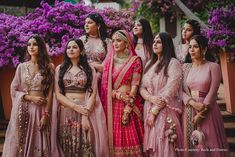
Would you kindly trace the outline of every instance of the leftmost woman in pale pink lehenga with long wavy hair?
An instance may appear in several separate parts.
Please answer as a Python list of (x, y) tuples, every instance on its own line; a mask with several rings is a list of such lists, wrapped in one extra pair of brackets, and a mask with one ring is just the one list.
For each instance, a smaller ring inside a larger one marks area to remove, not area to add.
[(3, 147), (3, 157), (49, 157), (50, 111), (54, 66), (44, 40), (28, 40), (30, 60), (20, 63), (11, 83), (12, 111)]

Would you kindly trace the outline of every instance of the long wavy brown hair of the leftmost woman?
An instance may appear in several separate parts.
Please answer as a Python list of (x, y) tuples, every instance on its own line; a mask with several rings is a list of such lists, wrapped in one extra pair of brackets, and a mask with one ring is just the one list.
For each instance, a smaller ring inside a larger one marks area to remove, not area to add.
[(39, 67), (39, 71), (41, 75), (43, 76), (43, 80), (41, 82), (43, 86), (43, 95), (47, 96), (49, 94), (50, 86), (54, 80), (54, 70), (51, 66), (51, 59), (48, 55), (46, 43), (44, 39), (39, 35), (33, 35), (30, 39), (35, 39), (36, 43), (38, 45), (38, 59), (37, 64)]

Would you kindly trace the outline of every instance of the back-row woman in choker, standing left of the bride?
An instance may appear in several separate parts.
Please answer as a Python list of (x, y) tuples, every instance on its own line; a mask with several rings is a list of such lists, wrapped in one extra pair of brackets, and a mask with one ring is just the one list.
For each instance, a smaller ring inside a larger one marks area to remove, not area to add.
[(83, 41), (88, 62), (97, 72), (102, 73), (102, 62), (111, 47), (106, 24), (100, 14), (91, 13), (85, 19), (84, 29), (86, 33), (80, 39)]

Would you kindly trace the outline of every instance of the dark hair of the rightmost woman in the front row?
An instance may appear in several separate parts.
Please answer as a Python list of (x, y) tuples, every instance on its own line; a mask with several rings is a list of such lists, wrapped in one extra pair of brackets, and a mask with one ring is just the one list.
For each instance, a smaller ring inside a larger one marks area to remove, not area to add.
[[(210, 49), (208, 49), (208, 39), (203, 36), (203, 35), (194, 35), (191, 39), (191, 40), (195, 40), (199, 46), (199, 49), (200, 49), (200, 52), (201, 52), (201, 55), (202, 54), (202, 50), (207, 48), (207, 51), (205, 53), (205, 59), (207, 61), (211, 61), (211, 62), (215, 62), (215, 57), (212, 55)], [(192, 63), (192, 58), (191, 58), (191, 55), (189, 54), (189, 52), (187, 53), (186, 57), (185, 57), (185, 63)]]

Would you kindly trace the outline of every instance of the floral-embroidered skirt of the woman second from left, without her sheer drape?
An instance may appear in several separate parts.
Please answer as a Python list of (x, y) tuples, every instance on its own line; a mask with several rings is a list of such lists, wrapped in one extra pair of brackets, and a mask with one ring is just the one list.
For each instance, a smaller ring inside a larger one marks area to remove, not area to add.
[[(85, 102), (73, 100), (77, 105)], [(78, 112), (60, 106), (58, 108), (58, 143), (65, 157), (94, 156), (94, 130), (84, 131), (81, 125), (82, 115)], [(93, 141), (92, 141), (93, 140)]]

